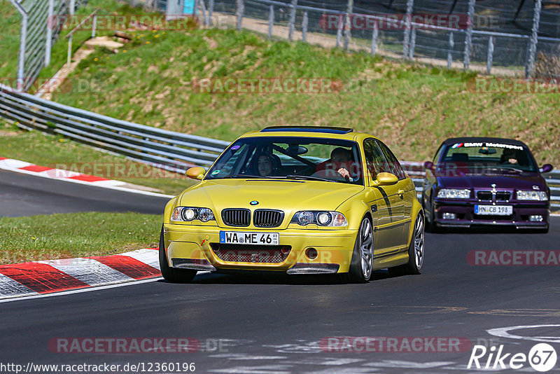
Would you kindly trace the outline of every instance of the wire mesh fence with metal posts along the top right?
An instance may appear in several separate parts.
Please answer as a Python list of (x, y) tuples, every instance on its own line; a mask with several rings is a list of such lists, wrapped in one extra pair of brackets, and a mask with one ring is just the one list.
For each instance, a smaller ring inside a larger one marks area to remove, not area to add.
[[(208, 0), (205, 2), (208, 3)], [(278, 36), (277, 27), (289, 28), (291, 3), (291, 0), (245, 0), (244, 22), (248, 21), (245, 18), (259, 20), (262, 24), (268, 22), (272, 6), (274, 35)], [(477, 1), (472, 17), (472, 46), (468, 56), (470, 64), (475, 64), (480, 69), (489, 65), (507, 68), (513, 74), (523, 74), (528, 69), (534, 4), (534, 1), (524, 0)], [(429, 19), (430, 15), (455, 15), (458, 23), (449, 22), (449, 26), (427, 27), (425, 24), (413, 22), (413, 29), (409, 29), (408, 33), (405, 23), (406, 10), (406, 0), (353, 1), (350, 15), (350, 46), (370, 49), (374, 42), (377, 53), (390, 56), (402, 56), (403, 53), (407, 53), (407, 56), (433, 59), (433, 62), (440, 64), (448, 61), (462, 63), (465, 60), (468, 20), (471, 19), (468, 17), (467, 0), (414, 1), (413, 20), (416, 16), (424, 20)], [(237, 1), (215, 1), (214, 11), (235, 15)], [(320, 36), (325, 39), (323, 44), (342, 46), (347, 11), (346, 1), (298, 0), (294, 37), (301, 38), (305, 30), (308, 41), (316, 41)], [(373, 20), (378, 21), (377, 32), (374, 32)], [(397, 21), (391, 24), (392, 20)], [(304, 25), (306, 22), (307, 25)], [(542, 76), (544, 67), (553, 66), (557, 61), (554, 57), (560, 56), (560, 2), (557, 6), (552, 6), (550, 2), (545, 1), (539, 25), (535, 60), (540, 61), (540, 70), (535, 70), (535, 76)], [(280, 36), (284, 37), (286, 30), (282, 31), (284, 33), (280, 33)], [(405, 46), (407, 34), (409, 43)], [(547, 74), (554, 76), (554, 71), (556, 70), (552, 69)]]

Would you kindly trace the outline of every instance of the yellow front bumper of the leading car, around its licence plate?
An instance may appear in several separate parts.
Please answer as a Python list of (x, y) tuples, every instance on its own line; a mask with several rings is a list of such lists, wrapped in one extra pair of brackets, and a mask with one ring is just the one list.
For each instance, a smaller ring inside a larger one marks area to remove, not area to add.
[[(221, 231), (279, 233), (279, 243), (276, 246), (221, 244)], [(321, 274), (348, 272), (357, 234), (358, 230), (348, 228), (300, 228), (295, 224), (282, 230), (244, 230), (166, 223), (164, 244), (167, 263), (173, 268)]]

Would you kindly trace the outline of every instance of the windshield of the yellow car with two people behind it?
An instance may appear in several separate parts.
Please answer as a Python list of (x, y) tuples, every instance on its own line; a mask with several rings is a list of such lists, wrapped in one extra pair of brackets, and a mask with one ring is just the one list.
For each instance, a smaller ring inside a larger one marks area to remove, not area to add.
[(207, 179), (301, 179), (363, 185), (354, 141), (312, 137), (238, 139), (207, 173)]

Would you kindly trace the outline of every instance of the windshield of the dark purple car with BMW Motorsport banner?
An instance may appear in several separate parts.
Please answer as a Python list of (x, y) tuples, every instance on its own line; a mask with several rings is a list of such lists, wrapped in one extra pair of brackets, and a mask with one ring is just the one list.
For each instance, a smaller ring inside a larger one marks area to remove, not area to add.
[(512, 172), (536, 172), (531, 152), (524, 146), (503, 143), (456, 143), (442, 155), (440, 169), (466, 168), (469, 172), (488, 169)]

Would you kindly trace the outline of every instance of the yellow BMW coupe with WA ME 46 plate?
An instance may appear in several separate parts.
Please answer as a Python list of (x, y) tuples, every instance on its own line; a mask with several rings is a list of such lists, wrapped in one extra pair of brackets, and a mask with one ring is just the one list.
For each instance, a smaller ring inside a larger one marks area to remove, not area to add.
[(344, 127), (266, 127), (244, 134), (165, 207), (160, 268), (197, 271), (419, 274), (424, 214), (414, 183), (379, 139)]

